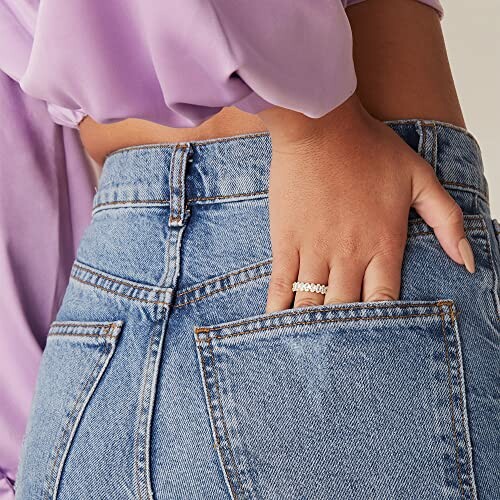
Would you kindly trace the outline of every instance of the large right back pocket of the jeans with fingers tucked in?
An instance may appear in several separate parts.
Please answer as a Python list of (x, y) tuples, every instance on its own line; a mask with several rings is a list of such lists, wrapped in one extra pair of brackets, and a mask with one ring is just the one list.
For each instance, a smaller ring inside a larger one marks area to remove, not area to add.
[(455, 305), (320, 305), (195, 328), (232, 498), (475, 498)]

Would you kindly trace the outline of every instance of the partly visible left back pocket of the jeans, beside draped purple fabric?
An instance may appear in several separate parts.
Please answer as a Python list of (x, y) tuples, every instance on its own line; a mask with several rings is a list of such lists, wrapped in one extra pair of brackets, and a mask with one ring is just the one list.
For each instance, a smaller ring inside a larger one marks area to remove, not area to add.
[(122, 326), (122, 321), (51, 324), (23, 440), (16, 498), (57, 497), (73, 436)]

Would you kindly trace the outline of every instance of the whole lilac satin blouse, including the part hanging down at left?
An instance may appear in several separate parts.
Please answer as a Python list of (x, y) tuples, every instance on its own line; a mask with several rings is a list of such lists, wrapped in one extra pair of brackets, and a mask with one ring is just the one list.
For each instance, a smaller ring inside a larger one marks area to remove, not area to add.
[(356, 88), (344, 8), (360, 1), (0, 0), (0, 500), (90, 222), (78, 123), (192, 127), (225, 106), (320, 117)]

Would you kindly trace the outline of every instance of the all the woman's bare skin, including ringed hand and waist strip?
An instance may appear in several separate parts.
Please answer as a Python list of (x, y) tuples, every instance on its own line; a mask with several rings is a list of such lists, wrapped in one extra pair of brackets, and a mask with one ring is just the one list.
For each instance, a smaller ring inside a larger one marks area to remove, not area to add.
[[(367, 0), (346, 12), (358, 87), (321, 118), (278, 107), (258, 115), (226, 108), (191, 129), (134, 119), (100, 125), (90, 117), (80, 125), (99, 163), (134, 144), (270, 132), (266, 312), (397, 299), (410, 207), (457, 265), (474, 270), (460, 207), (431, 166), (382, 122), (425, 118), (465, 128), (438, 15), (414, 0)], [(294, 293), (296, 280), (328, 284), (328, 293)]]

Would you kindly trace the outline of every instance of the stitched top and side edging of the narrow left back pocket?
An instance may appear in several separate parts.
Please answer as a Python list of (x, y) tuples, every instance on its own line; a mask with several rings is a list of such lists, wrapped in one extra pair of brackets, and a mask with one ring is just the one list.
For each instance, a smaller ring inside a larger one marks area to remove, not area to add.
[[(57, 322), (57, 326), (59, 325), (64, 325), (64, 326), (76, 326), (76, 323), (71, 323), (71, 322)], [(95, 328), (96, 323), (80, 323), (79, 328)], [(107, 325), (107, 326), (106, 326)], [(83, 384), (80, 384), (81, 389), (78, 392), (77, 397), (75, 398), (74, 403), (72, 404), (71, 410), (69, 412), (66, 412), (67, 418), (66, 418), (66, 423), (64, 424), (64, 427), (62, 430), (59, 431), (59, 437), (57, 439), (57, 446), (53, 449), (51, 453), (51, 465), (49, 467), (49, 471), (47, 472), (45, 481), (44, 481), (44, 498), (50, 499), (51, 496), (57, 493), (59, 489), (59, 484), (60, 484), (60, 478), (61, 478), (61, 473), (62, 469), (64, 467), (66, 457), (69, 451), (69, 447), (71, 445), (71, 442), (73, 440), (74, 433), (80, 423), (81, 417), (83, 415), (83, 412), (85, 411), (85, 408), (87, 406), (88, 401), (92, 397), (95, 388), (97, 387), (97, 384), (100, 382), (101, 377), (104, 373), (104, 370), (106, 370), (107, 365), (109, 363), (109, 360), (111, 359), (115, 346), (116, 346), (116, 341), (118, 334), (121, 332), (121, 328), (123, 326), (123, 322), (114, 322), (114, 323), (104, 323), (102, 324), (103, 331), (108, 330), (114, 326), (114, 329), (117, 330), (117, 333), (113, 336), (107, 336), (106, 338), (109, 338), (110, 340), (106, 341), (104, 344), (101, 344), (101, 347), (99, 347), (101, 353), (99, 355), (99, 358), (97, 359), (94, 368), (90, 372), (89, 376), (85, 380)], [(59, 335), (57, 333), (52, 333), (51, 335)], [(78, 337), (80, 336), (79, 334), (61, 334), (61, 335), (66, 335), (66, 336), (75, 336)], [(81, 334), (85, 335), (85, 334)], [(90, 334), (89, 334), (90, 335)], [(104, 335), (92, 335), (92, 336), (101, 336), (104, 337)], [(100, 373), (95, 376), (96, 371), (101, 370)], [(87, 392), (87, 387), (91, 384), (93, 380), (94, 387), (91, 387), (90, 390)], [(85, 401), (84, 395), (86, 394), (86, 399)], [(84, 399), (82, 399), (84, 398)], [(81, 406), (80, 410), (77, 411), (77, 407)], [(74, 420), (73, 420), (74, 419)], [(63, 447), (65, 446), (65, 450), (63, 452), (63, 455), (61, 456), (61, 451), (63, 450)], [(57, 462), (59, 462), (59, 466), (57, 466)], [(55, 474), (55, 477), (54, 477)]]

